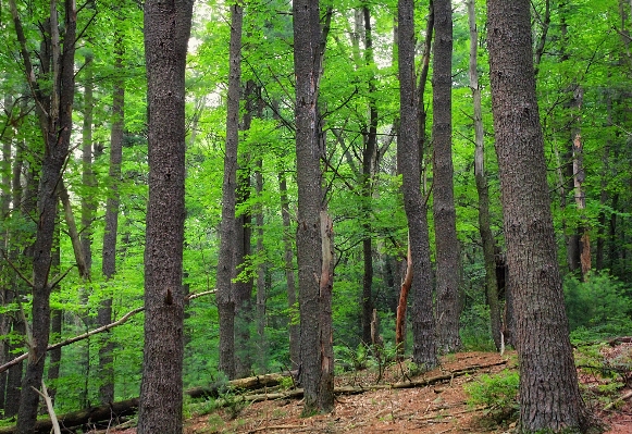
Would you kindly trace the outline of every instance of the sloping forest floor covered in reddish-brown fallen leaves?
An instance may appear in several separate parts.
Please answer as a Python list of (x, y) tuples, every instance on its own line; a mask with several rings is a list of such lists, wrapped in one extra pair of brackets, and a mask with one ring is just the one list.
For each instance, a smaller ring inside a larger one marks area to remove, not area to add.
[[(611, 360), (632, 360), (632, 344), (603, 347), (599, 351)], [(607, 363), (607, 361), (606, 361)], [(185, 422), (185, 434), (211, 433), (511, 433), (516, 416), (503, 422), (488, 418), (488, 409), (468, 404), (467, 384), (480, 381), (483, 374), (516, 370), (515, 352), (499, 356), (493, 352), (459, 352), (442, 358), (441, 368), (416, 377), (408, 377), (402, 364), (384, 372), (380, 384), (402, 384), (424, 379), (446, 376), (431, 385), (410, 388), (372, 389), (377, 372), (363, 370), (336, 377), (336, 386), (361, 386), (367, 390), (336, 396), (335, 411), (327, 416), (301, 418), (302, 400), (278, 399), (209, 409)], [(463, 370), (469, 373), (462, 374)], [(454, 373), (454, 374), (450, 374)], [(628, 371), (628, 374), (630, 372)], [(608, 434), (632, 433), (630, 383), (617, 386), (593, 370), (579, 370), (584, 398), (606, 425)], [(629, 380), (629, 379), (628, 379)], [(466, 386), (466, 387), (463, 387)], [(605, 390), (605, 392), (604, 392)], [(587, 398), (586, 398), (587, 397)], [(611, 410), (604, 410), (608, 404)], [(110, 431), (132, 434), (134, 429)]]

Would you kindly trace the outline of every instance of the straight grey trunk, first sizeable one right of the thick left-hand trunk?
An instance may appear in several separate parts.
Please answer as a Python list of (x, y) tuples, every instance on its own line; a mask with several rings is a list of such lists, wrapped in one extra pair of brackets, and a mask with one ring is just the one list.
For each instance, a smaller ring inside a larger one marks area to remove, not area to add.
[(231, 51), (228, 76), (228, 107), (226, 116), (226, 149), (224, 154), (224, 181), (222, 184), (222, 223), (220, 226), (220, 258), (218, 260), (216, 300), (220, 315), (219, 370), (233, 380), (235, 370), (235, 294), (236, 277), (236, 219), (237, 148), (239, 140), (239, 87), (241, 82), (241, 24), (244, 9), (239, 3), (231, 5)]

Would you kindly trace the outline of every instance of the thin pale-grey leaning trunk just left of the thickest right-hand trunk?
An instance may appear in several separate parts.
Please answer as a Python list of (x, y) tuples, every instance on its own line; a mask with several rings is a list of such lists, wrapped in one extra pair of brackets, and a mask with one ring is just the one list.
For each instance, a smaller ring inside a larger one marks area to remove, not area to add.
[(474, 0), (468, 0), (468, 16), (470, 23), (470, 87), (474, 101), (474, 176), (479, 193), (479, 232), (483, 241), (483, 258), (485, 261), (485, 289), (490, 305), (490, 322), (492, 337), (496, 349), (500, 349), (500, 305), (498, 302), (498, 283), (496, 282), (496, 259), (494, 234), (490, 216), (490, 190), (485, 175), (485, 142), (483, 131), (483, 110), (481, 107), (481, 88), (478, 73), (479, 30), (476, 28), (476, 11)]

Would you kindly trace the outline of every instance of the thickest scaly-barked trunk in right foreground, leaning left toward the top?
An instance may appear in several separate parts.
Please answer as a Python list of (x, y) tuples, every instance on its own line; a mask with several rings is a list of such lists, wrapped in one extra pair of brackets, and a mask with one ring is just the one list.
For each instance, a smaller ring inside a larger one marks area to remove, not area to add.
[[(520, 365), (522, 433), (585, 432), (535, 95), (530, 2), (487, 0), (492, 108)], [(546, 379), (546, 382), (543, 382)]]

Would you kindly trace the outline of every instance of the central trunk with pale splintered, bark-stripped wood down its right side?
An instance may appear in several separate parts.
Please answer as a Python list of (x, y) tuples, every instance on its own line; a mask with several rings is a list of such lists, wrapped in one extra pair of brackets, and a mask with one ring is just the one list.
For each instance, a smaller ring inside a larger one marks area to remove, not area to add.
[(330, 218), (324, 211), (321, 186), (323, 142), (318, 110), (324, 38), (319, 1), (299, 0), (293, 5), (300, 380), (305, 388), (303, 414), (311, 414), (331, 412), (334, 408), (331, 261), (327, 263), (331, 245), (327, 243), (327, 234), (321, 230), (321, 226), (329, 226), (326, 223)]

